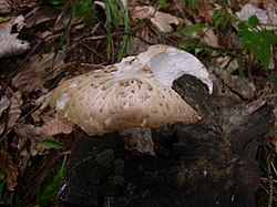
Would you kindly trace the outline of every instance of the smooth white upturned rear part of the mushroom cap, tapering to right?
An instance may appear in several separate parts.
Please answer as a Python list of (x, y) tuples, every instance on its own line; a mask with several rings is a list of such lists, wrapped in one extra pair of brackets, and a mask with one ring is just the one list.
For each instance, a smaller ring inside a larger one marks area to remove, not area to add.
[(172, 87), (174, 80), (184, 74), (195, 76), (205, 83), (209, 93), (213, 93), (213, 82), (209, 79), (207, 69), (191, 53), (171, 45), (156, 44), (137, 56), (129, 56), (116, 64), (123, 69), (126, 62), (134, 61), (138, 66), (147, 65), (154, 77), (164, 85)]

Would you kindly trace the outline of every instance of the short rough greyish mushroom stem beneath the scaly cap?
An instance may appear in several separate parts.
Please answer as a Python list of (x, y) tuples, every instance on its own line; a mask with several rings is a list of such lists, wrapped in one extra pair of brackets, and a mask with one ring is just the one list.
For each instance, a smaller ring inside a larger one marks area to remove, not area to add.
[(126, 148), (138, 154), (155, 155), (152, 132), (150, 127), (130, 127), (120, 131)]

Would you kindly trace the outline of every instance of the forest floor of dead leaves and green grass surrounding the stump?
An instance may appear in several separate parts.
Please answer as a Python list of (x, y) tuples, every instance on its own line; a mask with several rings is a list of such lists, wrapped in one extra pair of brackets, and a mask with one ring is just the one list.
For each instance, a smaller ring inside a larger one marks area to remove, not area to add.
[[(74, 126), (49, 106), (51, 91), (152, 44), (247, 79), (250, 100), (266, 100), (277, 116), (276, 11), (274, 0), (0, 0), (0, 205), (54, 204)], [(276, 154), (277, 123), (257, 154), (257, 206), (277, 204)]]

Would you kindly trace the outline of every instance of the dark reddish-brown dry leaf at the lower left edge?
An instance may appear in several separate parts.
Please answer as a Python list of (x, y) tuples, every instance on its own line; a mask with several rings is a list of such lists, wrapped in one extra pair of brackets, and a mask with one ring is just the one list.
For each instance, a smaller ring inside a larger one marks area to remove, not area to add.
[(12, 162), (11, 155), (4, 151), (0, 151), (0, 168), (3, 169), (4, 175), (0, 179), (6, 179), (6, 185), (9, 190), (14, 190), (18, 178), (18, 167)]

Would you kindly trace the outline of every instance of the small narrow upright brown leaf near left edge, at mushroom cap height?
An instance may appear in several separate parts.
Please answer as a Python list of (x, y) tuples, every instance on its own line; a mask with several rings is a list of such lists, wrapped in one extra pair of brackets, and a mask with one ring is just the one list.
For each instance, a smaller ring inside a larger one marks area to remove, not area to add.
[(14, 92), (10, 99), (10, 107), (7, 117), (7, 130), (11, 128), (18, 121), (21, 114), (20, 106), (22, 105), (21, 92)]

